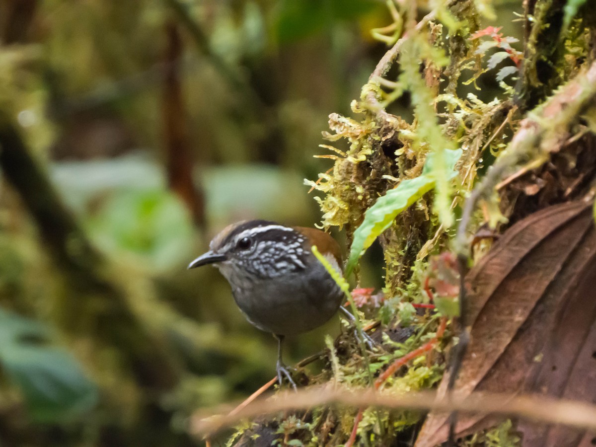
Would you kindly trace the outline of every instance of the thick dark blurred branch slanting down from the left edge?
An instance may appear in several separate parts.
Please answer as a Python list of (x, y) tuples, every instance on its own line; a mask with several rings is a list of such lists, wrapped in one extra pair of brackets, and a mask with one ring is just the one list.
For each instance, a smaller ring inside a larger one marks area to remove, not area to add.
[(20, 195), (64, 275), (67, 312), (60, 316), (61, 328), (71, 335), (92, 331), (94, 342), (116, 347), (139, 383), (173, 386), (178, 376), (175, 360), (136, 320), (109, 261), (91, 245), (11, 120), (2, 113), (0, 169)]

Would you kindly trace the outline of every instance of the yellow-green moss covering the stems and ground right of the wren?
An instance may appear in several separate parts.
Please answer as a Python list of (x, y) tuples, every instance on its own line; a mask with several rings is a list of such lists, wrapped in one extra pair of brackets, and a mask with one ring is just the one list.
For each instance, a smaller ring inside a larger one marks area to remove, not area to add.
[[(368, 386), (370, 374), (377, 377), (396, 359), (434, 340), (439, 314), (416, 312), (411, 305), (428, 302), (423, 288), (433, 268), (429, 256), (451, 248), (454, 231), (449, 228), (461, 215), (464, 198), (486, 168), (505, 153), (511, 135), (519, 129), (522, 113), (541, 104), (589, 59), (590, 33), (587, 18), (582, 15), (585, 8), (581, 0), (573, 4), (577, 8), (571, 12), (567, 8), (561, 28), (561, 20), (554, 18), (561, 13), (564, 2), (536, 1), (535, 11), (530, 11), (535, 14), (534, 26), (523, 52), (517, 48), (517, 38), (504, 35), (497, 23), (492, 21), (491, 26), (480, 29), (481, 20), (494, 20), (491, 2), (461, 1), (452, 7), (437, 2), (434, 19), (415, 28), (409, 17), (412, 11), (390, 4), (393, 23), (375, 30), (374, 35), (396, 45), (399, 51), (388, 52), (375, 76), (362, 87), (361, 98), (352, 103), (352, 117), (330, 116), (331, 132), (324, 136), (334, 145), (322, 147), (333, 152), (327, 158), (333, 158), (334, 164), (320, 175), (319, 181), (307, 181), (321, 193), (317, 200), (323, 213), (322, 226), (346, 229), (347, 241), (356, 252), (355, 258), (350, 256), (349, 271), (374, 238), (381, 244), (385, 300), (372, 318), (381, 321), (383, 347), (371, 353), (367, 362), (356, 343), (347, 340), (349, 334), (335, 344), (328, 340), (328, 367), (311, 383), (335, 381), (348, 387)], [(399, 66), (397, 75), (390, 71), (394, 61), (387, 62), (392, 54)], [(521, 64), (523, 57), (527, 59)], [(538, 67), (548, 70), (538, 73)], [(539, 79), (545, 73), (548, 79)], [(478, 87), (482, 83), (495, 85), (495, 89), (486, 94)], [(399, 113), (403, 104), (398, 100), (405, 102), (406, 93), (413, 119), (405, 117), (410, 110)], [(560, 120), (563, 122), (566, 114), (577, 113), (565, 110)], [(346, 150), (338, 148), (342, 142)], [(461, 158), (455, 164), (457, 176), (452, 179), (447, 156), (449, 150), (457, 149), (461, 150)], [(365, 216), (375, 204), (383, 204), (395, 194), (400, 185), (420, 179), (430, 157), (435, 162), (433, 191), (421, 191), (408, 206), (400, 207), (396, 214), (389, 213), (389, 217), (387, 213), (380, 213), (378, 219), (371, 218), (373, 213)], [(533, 162), (539, 166), (544, 157), (536, 153)], [(488, 222), (496, 226), (505, 221), (504, 214), (495, 193), (474, 214), (473, 225)], [(358, 228), (365, 225), (377, 231), (371, 230), (362, 238)], [(411, 330), (411, 335), (393, 341), (390, 331), (404, 327)], [(442, 343), (448, 337), (449, 328)], [(442, 343), (388, 378), (382, 392), (408, 393), (436, 386), (445, 369)], [(292, 433), (300, 436), (305, 445), (312, 442), (313, 436), (319, 445), (338, 445), (346, 442), (352, 432), (355, 416), (356, 411), (349, 408), (316, 409), (308, 436)], [(420, 416), (409, 411), (365, 409), (358, 439), (363, 445), (395, 442), (403, 430), (420, 421)], [(286, 434), (287, 427), (284, 430)], [(519, 445), (519, 437), (507, 421), (462, 443), (481, 444), (514, 446)]]

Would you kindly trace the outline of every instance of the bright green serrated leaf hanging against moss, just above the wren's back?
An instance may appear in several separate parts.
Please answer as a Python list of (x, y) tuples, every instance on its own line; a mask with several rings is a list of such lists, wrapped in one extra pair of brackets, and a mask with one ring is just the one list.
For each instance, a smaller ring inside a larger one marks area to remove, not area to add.
[[(441, 152), (447, 168), (444, 175), (451, 180), (457, 175), (454, 170), (455, 163), (460, 159), (462, 151), (456, 149)], [(364, 221), (354, 232), (350, 256), (346, 266), (346, 277), (352, 272), (358, 259), (373, 244), (374, 240), (391, 226), (396, 216), (434, 188), (437, 178), (436, 158), (436, 154), (429, 154), (421, 175), (416, 178), (402, 180), (395, 189), (387, 191), (367, 210)]]

